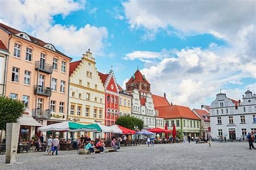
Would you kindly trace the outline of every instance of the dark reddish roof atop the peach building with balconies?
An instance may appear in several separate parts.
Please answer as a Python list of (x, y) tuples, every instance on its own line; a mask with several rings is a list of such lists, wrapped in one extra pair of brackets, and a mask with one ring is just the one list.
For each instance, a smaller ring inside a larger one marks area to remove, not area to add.
[[(9, 26), (3, 24), (3, 23), (0, 23), (0, 27), (2, 27), (3, 29), (5, 29), (6, 31), (10, 32), (10, 33), (13, 34), (13, 35), (22, 32), (22, 31), (19, 31), (19, 30), (17, 30), (17, 29), (11, 28), (11, 27), (9, 27)], [(28, 34), (27, 34), (27, 35), (28, 35)], [(36, 37), (30, 36), (30, 35), (28, 35), (28, 36), (30, 37), (30, 40), (31, 40), (34, 44), (36, 44), (36, 45), (40, 45), (40, 46), (43, 46), (43, 47), (44, 47), (44, 45), (46, 45), (46, 44), (51, 44), (51, 43), (44, 42), (44, 41), (42, 41), (42, 40), (36, 39)], [(44, 47), (44, 48), (46, 48), (46, 47)], [(47, 49), (48, 49), (48, 48), (47, 48)], [(51, 49), (49, 49), (49, 50), (51, 50)], [(68, 56), (66, 56), (65, 54), (61, 53), (61, 52), (60, 52), (59, 50), (57, 50), (57, 49), (56, 49), (56, 52), (59, 53), (59, 54), (62, 55), (62, 56), (68, 57)], [(72, 59), (71, 57), (68, 57), (68, 58)]]

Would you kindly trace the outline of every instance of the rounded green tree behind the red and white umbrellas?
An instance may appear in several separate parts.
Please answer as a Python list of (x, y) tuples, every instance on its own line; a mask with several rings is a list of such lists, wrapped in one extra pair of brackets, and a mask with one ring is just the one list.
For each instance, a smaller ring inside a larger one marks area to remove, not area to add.
[(139, 118), (131, 117), (130, 115), (121, 116), (115, 121), (115, 124), (123, 126), (128, 129), (134, 129), (134, 126), (138, 126), (138, 129), (143, 129), (144, 122)]

